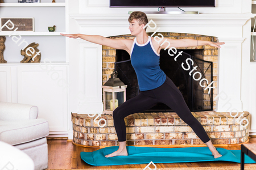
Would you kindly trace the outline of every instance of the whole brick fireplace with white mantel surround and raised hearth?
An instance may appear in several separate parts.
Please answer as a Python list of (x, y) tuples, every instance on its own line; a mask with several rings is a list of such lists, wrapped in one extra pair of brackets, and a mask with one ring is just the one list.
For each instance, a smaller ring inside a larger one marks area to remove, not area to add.
[[(129, 15), (98, 14), (72, 16), (80, 25), (80, 32), (88, 35), (102, 35), (112, 39), (131, 39), (127, 18)], [(230, 104), (250, 121), (249, 113), (243, 111), (241, 102), (241, 30), (250, 14), (200, 14), (165, 15), (149, 14), (148, 19), (160, 27), (160, 33), (170, 39), (192, 38), (225, 42), (221, 49), (212, 46), (197, 46), (203, 49), (203, 59), (213, 61), (213, 98), (225, 91)], [(111, 23), (111, 24), (109, 24)], [(233, 32), (230, 33), (230, 28)], [(148, 29), (148, 35), (154, 30)], [(236, 34), (234, 34), (236, 32)], [(156, 34), (155, 34), (156, 35)], [(118, 145), (113, 126), (113, 117), (103, 115), (107, 120), (104, 128), (98, 127), (93, 118), (84, 113), (102, 113), (102, 89), (114, 69), (115, 49), (84, 40), (80, 44), (79, 91), (85, 94), (83, 103), (78, 104), (78, 113), (72, 113), (73, 143), (88, 147)], [(177, 48), (182, 50), (183, 48)], [(185, 48), (189, 49), (189, 48)], [(90, 83), (93, 82), (93, 83)], [(213, 101), (214, 111), (192, 112), (204, 126), (215, 145), (236, 145), (248, 139), (248, 126), (242, 128), (225, 108), (226, 99)], [(209, 99), (204, 98), (204, 106), (209, 107)], [(82, 111), (82, 112), (81, 112)], [(238, 115), (240, 116), (240, 114)], [(237, 116), (237, 117), (238, 117)], [(125, 118), (127, 145), (175, 146), (203, 144), (176, 113), (135, 113)], [(103, 124), (104, 122), (102, 122)], [(242, 125), (246, 122), (243, 121)]]

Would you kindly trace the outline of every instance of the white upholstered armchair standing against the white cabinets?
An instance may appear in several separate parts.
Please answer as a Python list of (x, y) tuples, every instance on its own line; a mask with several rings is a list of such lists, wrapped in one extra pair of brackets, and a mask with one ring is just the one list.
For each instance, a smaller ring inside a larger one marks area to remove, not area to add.
[(34, 161), (35, 170), (48, 167), (48, 121), (38, 117), (38, 107), (0, 102), (0, 141), (25, 152)]

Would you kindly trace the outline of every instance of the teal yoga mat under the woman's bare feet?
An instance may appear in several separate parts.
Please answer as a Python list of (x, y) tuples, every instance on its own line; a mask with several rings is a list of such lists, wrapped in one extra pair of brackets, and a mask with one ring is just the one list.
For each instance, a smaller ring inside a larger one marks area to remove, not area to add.
[[(155, 148), (126, 146), (128, 156), (114, 156), (106, 158), (105, 155), (118, 150), (118, 146), (101, 148), (93, 152), (80, 152), (84, 162), (95, 165), (126, 165), (126, 164), (148, 164), (153, 163), (184, 163), (184, 162), (206, 162), (206, 161), (228, 161), (240, 163), (241, 150), (226, 150), (217, 148), (222, 155), (214, 158), (208, 147), (181, 147), (181, 148)], [(245, 163), (256, 163), (245, 155)]]

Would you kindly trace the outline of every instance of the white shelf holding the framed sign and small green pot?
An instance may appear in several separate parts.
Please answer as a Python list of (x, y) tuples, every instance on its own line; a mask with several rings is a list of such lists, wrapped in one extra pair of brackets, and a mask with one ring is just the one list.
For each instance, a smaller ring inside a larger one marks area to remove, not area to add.
[[(5, 31), (0, 32), (0, 36), (9, 36), (13, 31)], [(15, 31), (13, 35), (20, 35), (20, 36), (63, 36), (60, 33), (67, 33), (67, 32), (28, 32), (28, 31)]]

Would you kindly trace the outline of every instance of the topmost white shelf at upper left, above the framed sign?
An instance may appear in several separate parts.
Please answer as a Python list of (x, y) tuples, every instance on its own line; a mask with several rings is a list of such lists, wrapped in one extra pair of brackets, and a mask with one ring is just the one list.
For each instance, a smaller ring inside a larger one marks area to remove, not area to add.
[(65, 2), (56, 2), (56, 3), (0, 3), (0, 6), (66, 6)]

